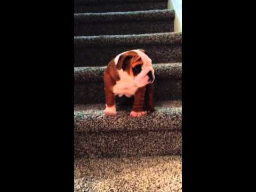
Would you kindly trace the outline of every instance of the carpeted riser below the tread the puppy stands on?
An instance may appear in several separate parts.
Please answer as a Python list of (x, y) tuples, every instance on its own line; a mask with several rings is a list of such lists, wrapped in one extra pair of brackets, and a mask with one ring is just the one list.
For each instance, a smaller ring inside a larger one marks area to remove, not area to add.
[(75, 133), (75, 158), (181, 155), (181, 132)]

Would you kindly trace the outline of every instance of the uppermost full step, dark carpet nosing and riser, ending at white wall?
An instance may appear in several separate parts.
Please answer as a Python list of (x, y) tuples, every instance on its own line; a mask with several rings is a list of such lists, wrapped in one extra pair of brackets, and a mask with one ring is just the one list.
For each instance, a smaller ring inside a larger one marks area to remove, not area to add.
[(164, 33), (174, 30), (174, 10), (79, 13), (75, 36)]

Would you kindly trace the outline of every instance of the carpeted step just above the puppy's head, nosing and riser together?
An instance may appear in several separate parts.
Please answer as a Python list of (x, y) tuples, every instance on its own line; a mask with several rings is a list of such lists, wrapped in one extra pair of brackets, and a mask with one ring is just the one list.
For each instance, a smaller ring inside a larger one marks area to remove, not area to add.
[(75, 67), (107, 66), (119, 53), (144, 49), (154, 63), (181, 62), (181, 33), (74, 37)]

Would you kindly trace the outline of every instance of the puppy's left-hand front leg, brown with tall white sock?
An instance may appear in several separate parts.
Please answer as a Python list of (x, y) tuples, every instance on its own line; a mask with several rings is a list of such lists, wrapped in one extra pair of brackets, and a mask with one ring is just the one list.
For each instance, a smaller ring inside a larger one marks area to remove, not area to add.
[(104, 110), (104, 113), (106, 115), (116, 115), (115, 94), (106, 87), (104, 88), (104, 90), (106, 99), (106, 109)]

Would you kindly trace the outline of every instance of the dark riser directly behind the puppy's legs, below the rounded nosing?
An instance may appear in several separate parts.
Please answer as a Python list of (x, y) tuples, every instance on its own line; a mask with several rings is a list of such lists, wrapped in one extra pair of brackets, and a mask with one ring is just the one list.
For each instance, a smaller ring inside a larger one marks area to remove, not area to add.
[[(169, 81), (158, 80), (154, 85), (155, 101), (181, 99), (181, 79)], [(105, 103), (103, 82), (75, 84), (74, 88), (75, 103)], [(116, 102), (122, 102), (122, 100), (124, 99), (116, 97)]]

